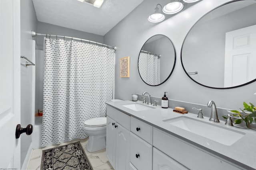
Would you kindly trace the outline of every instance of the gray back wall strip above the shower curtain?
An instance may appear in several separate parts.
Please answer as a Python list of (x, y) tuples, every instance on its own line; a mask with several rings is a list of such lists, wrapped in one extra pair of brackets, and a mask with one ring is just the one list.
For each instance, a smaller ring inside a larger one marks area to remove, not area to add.
[[(81, 39), (87, 39), (98, 43), (103, 43), (104, 37), (102, 35), (96, 35), (92, 33), (86, 33), (75, 29), (60, 27), (58, 25), (52, 25), (50, 23), (37, 22), (37, 33), (51, 34), (51, 35), (63, 35), (68, 37), (76, 37)], [(70, 40), (70, 39), (67, 39)], [(37, 36), (37, 45), (39, 50), (43, 50), (44, 36)]]

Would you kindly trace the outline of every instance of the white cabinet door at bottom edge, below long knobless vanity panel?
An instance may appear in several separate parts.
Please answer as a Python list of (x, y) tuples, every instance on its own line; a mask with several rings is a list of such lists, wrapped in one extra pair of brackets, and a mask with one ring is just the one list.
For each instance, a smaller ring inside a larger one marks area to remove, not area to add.
[(153, 148), (153, 170), (189, 170), (160, 150)]

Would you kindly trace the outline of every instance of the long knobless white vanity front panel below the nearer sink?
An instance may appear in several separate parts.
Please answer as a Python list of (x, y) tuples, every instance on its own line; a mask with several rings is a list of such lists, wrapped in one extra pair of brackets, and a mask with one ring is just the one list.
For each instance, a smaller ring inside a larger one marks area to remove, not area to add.
[(240, 170), (240, 168), (228, 164), (155, 127), (153, 128), (153, 145), (191, 170)]

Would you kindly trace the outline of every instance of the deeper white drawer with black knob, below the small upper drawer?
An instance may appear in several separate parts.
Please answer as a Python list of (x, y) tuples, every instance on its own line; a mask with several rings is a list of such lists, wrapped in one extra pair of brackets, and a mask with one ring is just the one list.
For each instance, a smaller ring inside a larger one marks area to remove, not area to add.
[(138, 170), (152, 170), (152, 145), (130, 132), (130, 162)]

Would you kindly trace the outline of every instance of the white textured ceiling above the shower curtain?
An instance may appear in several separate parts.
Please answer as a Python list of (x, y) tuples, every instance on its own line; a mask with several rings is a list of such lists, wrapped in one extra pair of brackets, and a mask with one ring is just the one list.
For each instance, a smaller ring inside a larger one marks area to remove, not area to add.
[(78, 0), (33, 0), (38, 21), (105, 35), (143, 0), (104, 0), (100, 8)]

